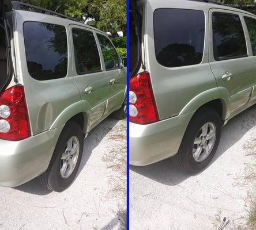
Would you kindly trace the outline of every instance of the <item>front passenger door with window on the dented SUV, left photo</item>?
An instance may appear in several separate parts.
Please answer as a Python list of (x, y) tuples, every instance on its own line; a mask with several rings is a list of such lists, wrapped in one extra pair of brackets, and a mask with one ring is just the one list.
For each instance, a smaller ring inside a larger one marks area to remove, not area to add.
[(105, 112), (107, 114), (113, 112), (116, 106), (123, 103), (126, 87), (126, 71), (121, 66), (121, 59), (110, 39), (100, 33), (97, 33), (97, 39), (99, 40), (104, 67), (108, 77), (108, 103)]

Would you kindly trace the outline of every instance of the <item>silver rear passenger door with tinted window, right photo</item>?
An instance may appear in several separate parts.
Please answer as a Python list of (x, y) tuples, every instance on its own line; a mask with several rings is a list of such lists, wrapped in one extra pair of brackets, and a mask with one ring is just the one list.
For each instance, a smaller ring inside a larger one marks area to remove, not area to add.
[(249, 53), (240, 13), (211, 9), (210, 66), (217, 85), (226, 89), (230, 116), (249, 102), (255, 73), (255, 60)]

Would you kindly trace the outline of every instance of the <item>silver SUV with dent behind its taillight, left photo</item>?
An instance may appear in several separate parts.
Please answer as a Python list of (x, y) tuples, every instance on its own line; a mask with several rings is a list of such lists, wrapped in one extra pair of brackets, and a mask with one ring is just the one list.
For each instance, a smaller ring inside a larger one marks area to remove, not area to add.
[(100, 30), (7, 0), (1, 18), (0, 185), (39, 176), (63, 191), (88, 132), (113, 112), (125, 118), (126, 70)]

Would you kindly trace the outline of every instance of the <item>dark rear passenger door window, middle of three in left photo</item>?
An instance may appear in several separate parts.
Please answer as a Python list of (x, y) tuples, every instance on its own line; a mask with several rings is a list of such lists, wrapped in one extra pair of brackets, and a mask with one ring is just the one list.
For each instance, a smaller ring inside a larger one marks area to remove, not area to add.
[(101, 71), (99, 51), (93, 33), (81, 29), (72, 31), (77, 74)]

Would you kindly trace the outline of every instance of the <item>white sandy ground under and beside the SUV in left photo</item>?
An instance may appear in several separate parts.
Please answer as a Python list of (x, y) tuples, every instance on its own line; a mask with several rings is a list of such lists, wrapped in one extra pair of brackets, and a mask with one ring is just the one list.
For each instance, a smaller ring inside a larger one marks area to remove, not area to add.
[(123, 229), (126, 121), (107, 118), (84, 145), (76, 181), (63, 193), (44, 191), (36, 179), (0, 187), (0, 229)]

